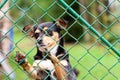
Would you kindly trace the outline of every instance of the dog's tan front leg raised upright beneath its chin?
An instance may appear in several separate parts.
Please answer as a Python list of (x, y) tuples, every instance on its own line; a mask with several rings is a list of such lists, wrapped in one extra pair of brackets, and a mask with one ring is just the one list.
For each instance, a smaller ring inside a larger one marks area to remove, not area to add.
[(54, 55), (49, 55), (54, 67), (55, 67), (55, 74), (57, 76), (58, 80), (68, 80), (67, 78), (67, 72), (65, 71), (65, 68), (60, 63), (59, 59)]

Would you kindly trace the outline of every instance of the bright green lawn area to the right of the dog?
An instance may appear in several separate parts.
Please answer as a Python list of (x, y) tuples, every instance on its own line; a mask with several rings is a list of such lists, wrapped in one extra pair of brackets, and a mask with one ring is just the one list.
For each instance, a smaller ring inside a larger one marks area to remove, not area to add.
[[(75, 45), (68, 51), (71, 64), (80, 71), (78, 80), (120, 79), (120, 64), (112, 52), (111, 55), (100, 45), (95, 45), (91, 49), (88, 48), (91, 44), (83, 43), (83, 45), (86, 49), (80, 45)], [(71, 44), (67, 45), (66, 48), (70, 46)]]

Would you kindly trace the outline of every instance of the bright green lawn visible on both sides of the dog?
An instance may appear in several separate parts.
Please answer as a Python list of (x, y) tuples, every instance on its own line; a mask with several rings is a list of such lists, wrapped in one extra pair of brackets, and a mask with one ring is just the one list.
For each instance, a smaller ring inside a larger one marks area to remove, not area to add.
[[(27, 53), (27, 59), (32, 64), (33, 55), (36, 53), (35, 41), (15, 34), (15, 47), (9, 58), (9, 63), (16, 73), (15, 80), (31, 80), (25, 71), (14, 61), (15, 51)], [(118, 57), (112, 51), (107, 51), (106, 47), (99, 44), (66, 44), (65, 48), (69, 53), (70, 63), (73, 68), (80, 71), (78, 80), (119, 80), (120, 63)], [(6, 80), (7, 77), (5, 77)]]

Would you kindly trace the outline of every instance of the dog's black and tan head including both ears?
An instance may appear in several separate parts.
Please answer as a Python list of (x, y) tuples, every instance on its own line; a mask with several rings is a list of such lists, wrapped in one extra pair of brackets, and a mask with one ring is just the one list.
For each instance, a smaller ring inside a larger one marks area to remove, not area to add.
[(60, 31), (66, 27), (67, 21), (58, 19), (56, 22), (44, 22), (35, 27), (27, 25), (23, 30), (27, 32), (28, 36), (37, 40), (40, 51), (50, 51), (58, 46)]

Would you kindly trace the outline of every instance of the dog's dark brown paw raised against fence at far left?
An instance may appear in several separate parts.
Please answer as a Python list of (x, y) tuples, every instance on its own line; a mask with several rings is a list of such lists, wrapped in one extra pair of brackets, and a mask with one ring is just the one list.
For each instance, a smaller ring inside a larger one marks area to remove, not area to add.
[(16, 51), (15, 61), (19, 63), (20, 65), (25, 63), (25, 55), (21, 54), (19, 51)]

